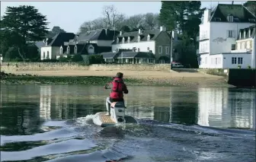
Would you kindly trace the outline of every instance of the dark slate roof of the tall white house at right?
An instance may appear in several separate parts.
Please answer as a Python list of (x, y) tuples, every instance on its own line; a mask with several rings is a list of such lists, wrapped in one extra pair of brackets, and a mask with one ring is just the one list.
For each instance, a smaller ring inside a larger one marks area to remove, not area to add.
[[(243, 5), (219, 4), (211, 13), (210, 22), (229, 22), (227, 19), (229, 15), (234, 17), (234, 22), (250, 22), (249, 19), (256, 19)], [(220, 18), (220, 20), (216, 18)]]

